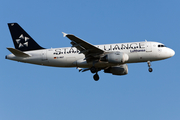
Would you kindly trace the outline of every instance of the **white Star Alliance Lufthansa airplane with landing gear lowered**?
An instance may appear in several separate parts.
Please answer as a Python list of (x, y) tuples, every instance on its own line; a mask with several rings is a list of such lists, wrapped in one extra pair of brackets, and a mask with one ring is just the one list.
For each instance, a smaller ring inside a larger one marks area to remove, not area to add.
[(129, 42), (117, 44), (92, 45), (72, 34), (63, 36), (70, 39), (71, 47), (41, 47), (18, 24), (8, 23), (15, 48), (7, 48), (12, 54), (6, 59), (51, 67), (76, 67), (79, 72), (91, 71), (95, 81), (99, 80), (98, 72), (113, 75), (128, 74), (128, 63), (147, 62), (152, 72), (152, 61), (174, 56), (175, 51), (164, 44), (152, 41)]

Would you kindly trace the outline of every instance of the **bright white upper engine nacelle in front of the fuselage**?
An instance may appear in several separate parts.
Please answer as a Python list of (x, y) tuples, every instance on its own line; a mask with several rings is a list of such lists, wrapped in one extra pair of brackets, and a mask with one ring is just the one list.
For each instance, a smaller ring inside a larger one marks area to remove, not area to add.
[(122, 64), (129, 60), (129, 56), (122, 52), (111, 52), (107, 54), (106, 60), (113, 64)]

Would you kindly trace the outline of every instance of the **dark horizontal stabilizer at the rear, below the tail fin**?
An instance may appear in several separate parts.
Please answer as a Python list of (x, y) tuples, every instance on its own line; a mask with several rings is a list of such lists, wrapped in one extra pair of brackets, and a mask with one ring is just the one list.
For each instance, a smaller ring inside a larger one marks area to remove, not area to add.
[(17, 49), (14, 49), (14, 48), (7, 48), (7, 49), (17, 57), (30, 57), (29, 54), (23, 53), (20, 50), (17, 50)]

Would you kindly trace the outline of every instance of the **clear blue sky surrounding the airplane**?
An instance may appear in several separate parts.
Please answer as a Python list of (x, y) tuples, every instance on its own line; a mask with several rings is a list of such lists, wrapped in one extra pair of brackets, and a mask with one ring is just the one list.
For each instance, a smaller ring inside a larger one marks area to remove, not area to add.
[[(179, 0), (5, 0), (0, 4), (0, 120), (179, 120)], [(61, 32), (92, 44), (157, 41), (174, 57), (128, 64), (113, 76), (6, 60), (7, 23), (19, 23), (45, 48), (68, 47)]]

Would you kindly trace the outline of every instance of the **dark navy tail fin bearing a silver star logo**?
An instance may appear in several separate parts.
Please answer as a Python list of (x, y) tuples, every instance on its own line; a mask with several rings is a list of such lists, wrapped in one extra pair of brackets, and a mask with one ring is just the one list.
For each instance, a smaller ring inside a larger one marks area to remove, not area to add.
[(44, 49), (18, 23), (8, 23), (8, 27), (16, 49), (20, 51)]

